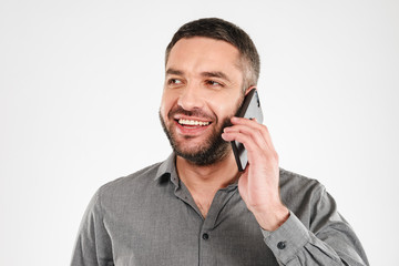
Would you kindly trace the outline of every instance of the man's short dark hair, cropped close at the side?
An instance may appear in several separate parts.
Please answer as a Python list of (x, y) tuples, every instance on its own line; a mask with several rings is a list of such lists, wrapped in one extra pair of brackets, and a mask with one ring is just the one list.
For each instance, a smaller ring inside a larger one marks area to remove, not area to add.
[(165, 51), (165, 64), (167, 63), (172, 48), (183, 38), (205, 37), (215, 40), (222, 40), (233, 44), (238, 49), (241, 55), (241, 68), (244, 73), (244, 90), (256, 85), (260, 60), (254, 42), (249, 35), (237, 25), (217, 18), (206, 18), (191, 21), (182, 25), (173, 35), (172, 41)]

